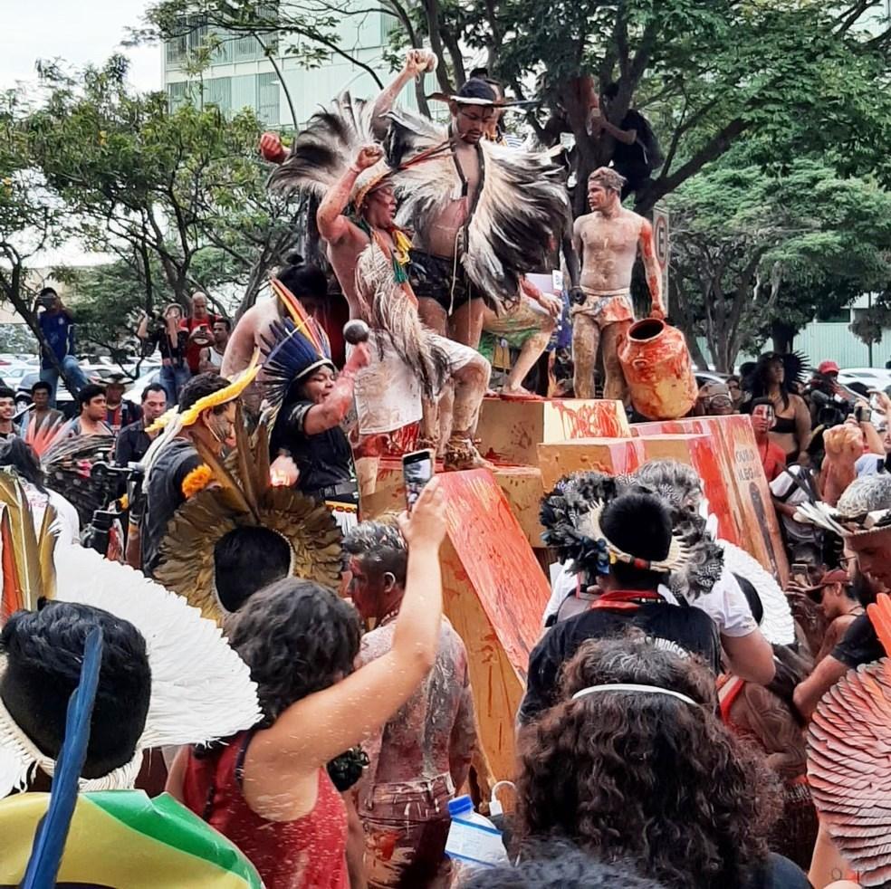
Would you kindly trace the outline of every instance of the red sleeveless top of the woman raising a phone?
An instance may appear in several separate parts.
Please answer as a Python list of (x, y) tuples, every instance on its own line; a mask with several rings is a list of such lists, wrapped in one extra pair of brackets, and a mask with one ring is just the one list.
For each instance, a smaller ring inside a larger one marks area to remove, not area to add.
[(260, 872), (266, 889), (349, 889), (347, 811), (328, 772), (319, 770), (315, 807), (294, 821), (267, 821), (242, 794), (243, 731), (200, 759), (189, 753), (183, 795), (188, 808), (227, 836)]

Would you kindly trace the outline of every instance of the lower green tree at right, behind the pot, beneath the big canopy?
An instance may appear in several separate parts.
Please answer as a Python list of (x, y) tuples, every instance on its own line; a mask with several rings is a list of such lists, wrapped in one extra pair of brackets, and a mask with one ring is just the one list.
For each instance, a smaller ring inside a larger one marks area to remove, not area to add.
[(785, 173), (730, 158), (667, 202), (672, 310), (688, 339), (704, 332), (719, 370), (757, 349), (774, 320), (803, 325), (891, 280), (891, 196), (813, 161)]

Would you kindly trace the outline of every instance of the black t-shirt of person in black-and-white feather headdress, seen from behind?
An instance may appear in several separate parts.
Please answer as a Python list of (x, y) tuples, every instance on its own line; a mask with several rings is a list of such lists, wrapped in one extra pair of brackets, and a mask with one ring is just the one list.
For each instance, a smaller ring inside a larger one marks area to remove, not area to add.
[(526, 694), (518, 719), (532, 722), (539, 713), (557, 703), (560, 669), (588, 639), (618, 638), (629, 627), (637, 627), (654, 640), (679, 645), (699, 655), (714, 670), (721, 670), (721, 644), (711, 617), (699, 608), (646, 603), (636, 610), (591, 608), (552, 626), (532, 649)]

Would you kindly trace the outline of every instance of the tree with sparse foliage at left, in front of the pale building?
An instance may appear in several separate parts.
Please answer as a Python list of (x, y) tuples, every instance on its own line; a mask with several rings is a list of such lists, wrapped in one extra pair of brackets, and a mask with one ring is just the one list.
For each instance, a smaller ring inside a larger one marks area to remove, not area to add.
[(132, 95), (126, 62), (72, 78), (43, 71), (48, 96), (19, 125), (45, 181), (61, 197), (89, 249), (129, 263), (144, 305), (158, 294), (187, 304), (190, 292), (244, 287), (253, 304), (271, 267), (300, 242), (300, 207), (265, 187), (260, 126), (215, 106), (168, 110), (161, 93)]

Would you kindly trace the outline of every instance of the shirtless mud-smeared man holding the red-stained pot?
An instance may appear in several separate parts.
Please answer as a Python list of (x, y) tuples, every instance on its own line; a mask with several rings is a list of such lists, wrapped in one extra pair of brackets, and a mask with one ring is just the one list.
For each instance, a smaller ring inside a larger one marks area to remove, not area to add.
[(653, 227), (643, 216), (622, 206), (625, 180), (609, 167), (588, 178), (591, 213), (573, 227), (573, 244), (581, 257), (584, 301), (572, 307), (573, 386), (577, 398), (593, 398), (594, 366), (603, 346), (604, 398), (628, 401), (628, 384), (618, 362), (618, 347), (634, 321), (631, 272), (640, 251), (652, 297), (650, 317), (664, 319), (662, 270), (653, 246)]

